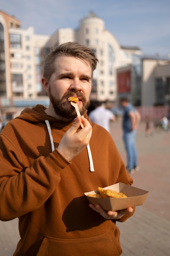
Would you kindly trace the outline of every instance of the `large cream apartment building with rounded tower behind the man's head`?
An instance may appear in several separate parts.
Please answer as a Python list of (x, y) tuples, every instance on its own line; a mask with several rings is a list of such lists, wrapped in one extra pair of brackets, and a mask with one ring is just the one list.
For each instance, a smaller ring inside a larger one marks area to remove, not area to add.
[(91, 48), (99, 58), (93, 74), (91, 100), (115, 102), (118, 67), (130, 65), (139, 47), (121, 46), (105, 29), (104, 20), (89, 12), (79, 27), (60, 28), (52, 35), (38, 35), (33, 27), (21, 28), (14, 16), (0, 11), (0, 105), (25, 107), (48, 105), (42, 85), (42, 66), (46, 54), (57, 45), (74, 41)]

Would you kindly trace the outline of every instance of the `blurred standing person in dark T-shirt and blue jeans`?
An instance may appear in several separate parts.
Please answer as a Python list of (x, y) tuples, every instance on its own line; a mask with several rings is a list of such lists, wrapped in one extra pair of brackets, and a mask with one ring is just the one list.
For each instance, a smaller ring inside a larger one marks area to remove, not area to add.
[(135, 171), (139, 171), (135, 139), (137, 133), (137, 125), (140, 120), (140, 114), (135, 109), (135, 107), (128, 102), (128, 99), (121, 98), (120, 104), (124, 108), (122, 129), (124, 132), (123, 140), (127, 153), (126, 170), (132, 174), (135, 173)]

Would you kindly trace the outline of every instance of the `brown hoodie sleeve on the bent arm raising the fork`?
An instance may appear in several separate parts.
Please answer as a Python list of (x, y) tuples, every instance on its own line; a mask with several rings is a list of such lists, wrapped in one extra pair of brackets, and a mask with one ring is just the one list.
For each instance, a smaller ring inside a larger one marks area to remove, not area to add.
[(0, 135), (0, 220), (11, 220), (38, 209), (60, 182), (61, 171), (70, 164), (55, 149), (23, 168), (18, 148)]

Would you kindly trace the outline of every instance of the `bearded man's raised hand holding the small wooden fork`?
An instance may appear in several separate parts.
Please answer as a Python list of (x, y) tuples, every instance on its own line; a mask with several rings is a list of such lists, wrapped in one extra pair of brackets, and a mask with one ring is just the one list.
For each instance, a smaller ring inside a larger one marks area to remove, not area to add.
[[(84, 128), (79, 129), (81, 122)], [(66, 131), (58, 146), (58, 151), (68, 160), (78, 155), (89, 144), (92, 126), (84, 117), (76, 117), (71, 128)]]

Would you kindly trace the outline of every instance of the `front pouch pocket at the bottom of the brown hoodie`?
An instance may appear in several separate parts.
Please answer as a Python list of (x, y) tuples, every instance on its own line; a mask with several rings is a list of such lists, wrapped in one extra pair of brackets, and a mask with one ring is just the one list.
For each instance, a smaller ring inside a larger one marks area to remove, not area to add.
[[(119, 234), (117, 234), (119, 236)], [(119, 256), (122, 250), (114, 233), (81, 239), (57, 239), (45, 236), (37, 256)]]

